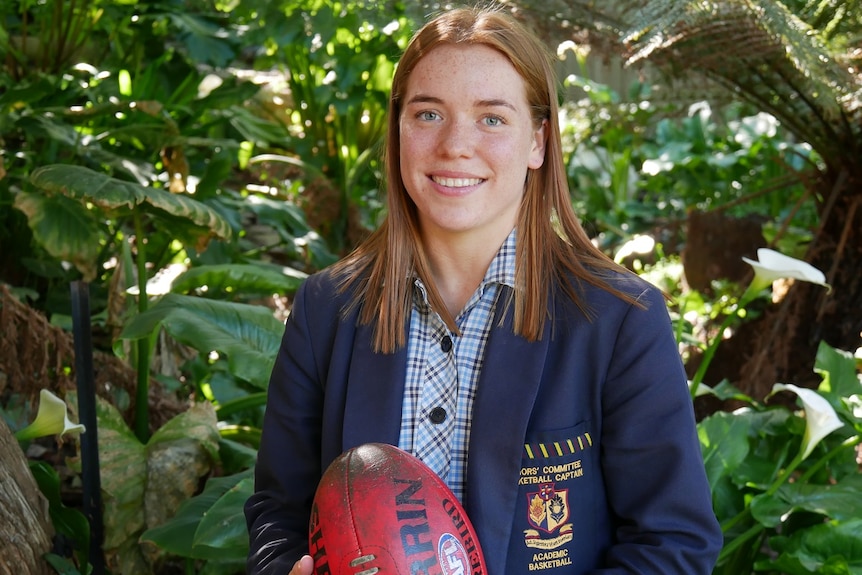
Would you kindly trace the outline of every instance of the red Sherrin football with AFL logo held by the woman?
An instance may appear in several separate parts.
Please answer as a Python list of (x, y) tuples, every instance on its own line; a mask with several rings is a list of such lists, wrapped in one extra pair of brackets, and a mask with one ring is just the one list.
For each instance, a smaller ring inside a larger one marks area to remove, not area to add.
[(485, 575), (467, 514), (418, 458), (384, 443), (338, 456), (314, 496), (316, 575)]

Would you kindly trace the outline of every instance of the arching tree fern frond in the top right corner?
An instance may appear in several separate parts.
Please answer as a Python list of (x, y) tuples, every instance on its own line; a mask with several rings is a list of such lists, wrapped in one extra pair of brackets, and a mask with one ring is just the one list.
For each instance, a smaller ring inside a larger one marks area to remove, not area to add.
[(707, 76), (777, 117), (824, 158), (858, 162), (862, 78), (784, 4), (658, 0), (624, 43), (628, 64), (647, 60), (671, 77)]

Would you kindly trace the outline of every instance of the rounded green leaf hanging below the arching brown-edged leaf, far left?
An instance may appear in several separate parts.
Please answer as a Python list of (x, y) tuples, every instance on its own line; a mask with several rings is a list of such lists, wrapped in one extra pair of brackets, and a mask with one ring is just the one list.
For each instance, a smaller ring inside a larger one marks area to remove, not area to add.
[(33, 237), (55, 258), (71, 262), (84, 278), (96, 277), (100, 228), (80, 202), (63, 196), (19, 192), (15, 207), (27, 216)]

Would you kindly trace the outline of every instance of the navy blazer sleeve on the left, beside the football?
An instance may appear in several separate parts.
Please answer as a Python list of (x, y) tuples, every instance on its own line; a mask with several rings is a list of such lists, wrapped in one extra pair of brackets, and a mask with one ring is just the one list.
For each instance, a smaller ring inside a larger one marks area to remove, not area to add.
[(309, 284), (297, 291), (267, 391), (255, 491), (245, 505), (249, 574), (284, 575), (308, 552), (309, 510), (321, 473), (323, 402)]

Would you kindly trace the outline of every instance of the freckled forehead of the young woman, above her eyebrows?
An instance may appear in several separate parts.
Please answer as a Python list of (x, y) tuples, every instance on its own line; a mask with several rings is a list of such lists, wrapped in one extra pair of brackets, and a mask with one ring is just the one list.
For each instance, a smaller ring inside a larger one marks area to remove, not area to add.
[(500, 51), (484, 44), (441, 44), (420, 59), (407, 79), (407, 92), (434, 89), (514, 90), (525, 94), (524, 79)]

